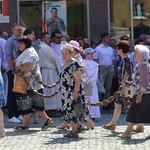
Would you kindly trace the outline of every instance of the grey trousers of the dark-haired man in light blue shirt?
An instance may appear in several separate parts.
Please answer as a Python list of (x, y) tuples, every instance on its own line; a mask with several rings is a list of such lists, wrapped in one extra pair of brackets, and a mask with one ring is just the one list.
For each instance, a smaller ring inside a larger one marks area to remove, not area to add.
[(111, 84), (114, 75), (114, 66), (99, 66), (99, 75), (101, 75), (104, 81), (105, 95), (104, 99), (107, 99), (110, 96)]

